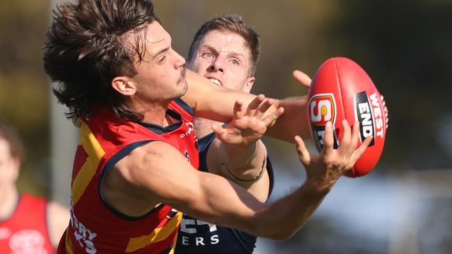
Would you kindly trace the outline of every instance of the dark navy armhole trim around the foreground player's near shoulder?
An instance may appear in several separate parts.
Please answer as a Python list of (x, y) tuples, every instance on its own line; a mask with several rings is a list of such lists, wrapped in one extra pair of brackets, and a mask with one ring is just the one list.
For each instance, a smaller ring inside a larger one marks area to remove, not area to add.
[(98, 189), (100, 199), (101, 199), (102, 203), (105, 205), (105, 207), (110, 212), (115, 214), (117, 217), (120, 217), (121, 219), (125, 219), (127, 221), (139, 221), (140, 219), (145, 219), (145, 217), (149, 216), (150, 214), (152, 214), (156, 210), (159, 210), (159, 209), (163, 208), (163, 205), (160, 204), (160, 205), (157, 205), (156, 208), (153, 208), (152, 210), (147, 212), (146, 214), (143, 214), (143, 215), (138, 216), (138, 217), (131, 217), (129, 215), (123, 214), (122, 212), (116, 210), (110, 204), (108, 204), (108, 202), (104, 199), (104, 195), (102, 195), (102, 191), (101, 191), (102, 190), (102, 183), (104, 183), (104, 178), (105, 178), (106, 174), (108, 173), (108, 171), (110, 171), (110, 169), (113, 167), (113, 165), (115, 165), (122, 158), (124, 158), (126, 155), (131, 153), (131, 151), (134, 151), (134, 149), (137, 149), (140, 146), (144, 146), (145, 144), (148, 144), (150, 142), (156, 142), (156, 141), (157, 140), (145, 140), (145, 141), (138, 141), (138, 142), (134, 142), (134, 143), (128, 144), (123, 149), (121, 149), (118, 153), (115, 153), (115, 155), (113, 155), (106, 162), (106, 164), (104, 166), (104, 169), (102, 170), (102, 173), (101, 173), (100, 178), (99, 178), (99, 189)]

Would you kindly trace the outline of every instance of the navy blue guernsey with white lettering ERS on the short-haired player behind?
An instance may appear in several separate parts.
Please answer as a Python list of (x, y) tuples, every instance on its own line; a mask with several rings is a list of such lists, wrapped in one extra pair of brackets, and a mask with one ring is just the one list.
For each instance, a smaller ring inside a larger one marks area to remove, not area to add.
[[(198, 139), (200, 171), (207, 169), (207, 151), (215, 133)], [(267, 171), (270, 178), (268, 196), (273, 190), (273, 168), (267, 157)], [(249, 254), (254, 251), (257, 237), (233, 228), (217, 226), (213, 223), (193, 219), (184, 214), (177, 234), (175, 254)]]

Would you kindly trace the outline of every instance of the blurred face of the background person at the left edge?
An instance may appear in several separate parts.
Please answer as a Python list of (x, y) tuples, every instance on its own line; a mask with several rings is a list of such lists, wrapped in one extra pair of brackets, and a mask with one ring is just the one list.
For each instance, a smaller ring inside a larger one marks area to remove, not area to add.
[(0, 193), (12, 187), (19, 175), (19, 160), (11, 157), (10, 145), (0, 138)]

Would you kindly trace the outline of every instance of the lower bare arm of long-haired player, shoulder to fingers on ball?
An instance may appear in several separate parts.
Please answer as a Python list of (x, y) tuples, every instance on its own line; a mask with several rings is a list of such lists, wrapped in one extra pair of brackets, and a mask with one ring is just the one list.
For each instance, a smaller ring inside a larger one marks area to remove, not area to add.
[(325, 149), (317, 156), (296, 139), (307, 180), (296, 192), (270, 205), (230, 180), (195, 170), (179, 151), (163, 142), (151, 142), (120, 160), (107, 174), (102, 193), (113, 208), (129, 216), (146, 214), (166, 203), (204, 221), (287, 239), (309, 219), (371, 140), (365, 139), (356, 149), (359, 130), (351, 131), (344, 122), (342, 142), (339, 149), (333, 149), (332, 131), (331, 126), (325, 130)]

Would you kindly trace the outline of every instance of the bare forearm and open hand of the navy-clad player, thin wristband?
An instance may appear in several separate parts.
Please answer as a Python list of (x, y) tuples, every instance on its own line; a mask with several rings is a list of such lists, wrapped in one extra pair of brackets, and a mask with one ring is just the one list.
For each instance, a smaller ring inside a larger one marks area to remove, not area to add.
[(225, 128), (212, 126), (217, 138), (209, 147), (207, 160), (211, 173), (232, 180), (263, 202), (268, 198), (269, 178), (266, 147), (259, 139), (282, 114), (280, 109), (265, 115), (272, 101), (264, 99), (257, 96), (245, 111), (243, 103), (236, 101), (232, 121)]

